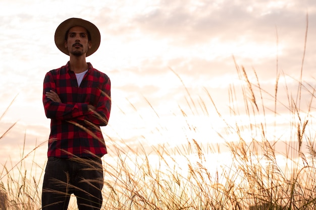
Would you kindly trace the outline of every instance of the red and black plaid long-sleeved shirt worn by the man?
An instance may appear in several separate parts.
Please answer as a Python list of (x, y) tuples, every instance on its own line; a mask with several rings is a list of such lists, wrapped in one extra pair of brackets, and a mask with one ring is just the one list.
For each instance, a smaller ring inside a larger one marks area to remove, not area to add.
[[(79, 87), (69, 62), (45, 76), (43, 104), (46, 117), (51, 119), (48, 157), (102, 157), (107, 154), (100, 126), (107, 125), (110, 117), (111, 82), (91, 63), (88, 66)], [(45, 96), (50, 90), (59, 95), (61, 103)], [(95, 111), (88, 111), (88, 104), (93, 105)]]

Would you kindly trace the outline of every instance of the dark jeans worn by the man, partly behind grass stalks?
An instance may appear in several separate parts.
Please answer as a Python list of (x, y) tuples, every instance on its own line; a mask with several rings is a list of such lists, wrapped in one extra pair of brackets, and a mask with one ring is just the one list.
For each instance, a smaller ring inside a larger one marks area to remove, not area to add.
[(49, 157), (43, 181), (42, 210), (67, 210), (71, 194), (77, 197), (79, 210), (100, 209), (102, 187), (100, 158)]

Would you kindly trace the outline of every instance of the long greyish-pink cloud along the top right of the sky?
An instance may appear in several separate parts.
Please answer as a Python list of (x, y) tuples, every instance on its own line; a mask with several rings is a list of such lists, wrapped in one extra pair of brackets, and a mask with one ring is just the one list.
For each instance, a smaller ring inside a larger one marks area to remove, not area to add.
[[(271, 3), (162, 1), (159, 6), (136, 15), (135, 28), (156, 38), (168, 37), (183, 46), (207, 42), (213, 37), (222, 41), (238, 40), (239, 37), (271, 40), (266, 35), (268, 31), (274, 32), (274, 26), (301, 26), (300, 20), (305, 18), (307, 11), (297, 8), (298, 1), (279, 7), (273, 7)], [(289, 19), (294, 21), (289, 22)], [(256, 36), (252, 37), (254, 34)]]

